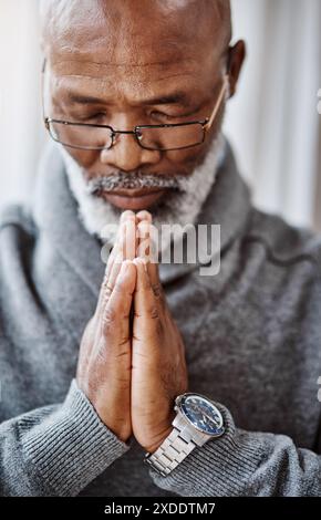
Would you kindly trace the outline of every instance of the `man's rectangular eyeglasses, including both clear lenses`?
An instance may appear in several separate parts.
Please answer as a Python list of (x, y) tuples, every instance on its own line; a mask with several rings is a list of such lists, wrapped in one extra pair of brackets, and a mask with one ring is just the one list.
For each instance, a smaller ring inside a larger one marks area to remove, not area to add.
[(133, 131), (115, 131), (110, 125), (94, 125), (44, 117), (50, 136), (70, 148), (84, 150), (111, 149), (118, 134), (134, 135), (137, 144), (151, 150), (177, 150), (199, 146), (213, 126), (228, 89), (229, 76), (224, 75), (224, 83), (217, 102), (209, 117), (204, 121), (164, 125), (138, 125)]

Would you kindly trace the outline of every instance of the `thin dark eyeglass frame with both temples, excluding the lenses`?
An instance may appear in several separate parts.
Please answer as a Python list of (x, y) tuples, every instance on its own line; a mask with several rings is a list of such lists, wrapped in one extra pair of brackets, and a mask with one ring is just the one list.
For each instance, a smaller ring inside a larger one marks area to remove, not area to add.
[[(44, 75), (44, 72), (45, 72), (45, 60), (44, 60), (43, 66), (42, 66), (42, 75)], [(44, 82), (42, 81), (42, 96), (44, 96), (43, 83)], [(229, 74), (226, 73), (226, 74), (224, 74), (222, 86), (220, 89), (217, 102), (214, 106), (214, 110), (213, 110), (210, 116), (206, 117), (205, 119), (200, 119), (200, 121), (198, 119), (198, 121), (189, 121), (189, 122), (186, 122), (186, 123), (174, 123), (174, 124), (163, 124), (163, 125), (136, 125), (136, 126), (134, 126), (134, 128), (132, 131), (116, 131), (110, 125), (95, 125), (95, 124), (91, 124), (91, 123), (79, 123), (79, 122), (71, 122), (71, 121), (55, 119), (55, 118), (52, 118), (52, 117), (48, 117), (48, 116), (44, 115), (44, 100), (42, 100), (44, 126), (48, 129), (49, 135), (53, 141), (55, 141), (56, 143), (60, 143), (63, 146), (66, 146), (69, 148), (75, 148), (75, 149), (101, 150), (101, 152), (103, 149), (108, 150), (108, 149), (113, 148), (113, 146), (115, 145), (116, 136), (121, 135), (121, 134), (134, 135), (135, 139), (136, 139), (136, 143), (138, 144), (138, 146), (141, 146), (141, 148), (153, 150), (153, 152), (173, 152), (173, 150), (179, 150), (179, 149), (186, 149), (186, 148), (194, 148), (195, 146), (199, 146), (205, 142), (206, 135), (208, 134), (209, 129), (213, 126), (213, 123), (215, 121), (215, 117), (216, 117), (219, 108), (220, 108), (221, 102), (225, 97), (225, 94), (228, 90), (228, 86), (229, 86)], [(83, 127), (87, 127), (87, 128), (105, 128), (105, 129), (108, 129), (111, 132), (112, 144), (110, 146), (97, 146), (97, 147), (90, 146), (90, 147), (85, 147), (85, 146), (75, 146), (75, 145), (70, 145), (70, 144), (63, 143), (62, 141), (54, 137), (54, 135), (52, 134), (51, 128), (50, 128), (51, 123), (58, 123), (58, 124), (65, 125), (65, 126), (77, 126), (77, 127), (83, 126)], [(180, 127), (180, 126), (190, 126), (190, 125), (200, 125), (201, 128), (203, 128), (203, 139), (199, 143), (196, 143), (194, 145), (176, 147), (176, 148), (152, 148), (152, 147), (148, 147), (148, 146), (144, 146), (139, 141), (141, 139), (139, 131), (142, 131), (142, 129), (146, 129), (146, 128), (177, 128), (177, 127)]]

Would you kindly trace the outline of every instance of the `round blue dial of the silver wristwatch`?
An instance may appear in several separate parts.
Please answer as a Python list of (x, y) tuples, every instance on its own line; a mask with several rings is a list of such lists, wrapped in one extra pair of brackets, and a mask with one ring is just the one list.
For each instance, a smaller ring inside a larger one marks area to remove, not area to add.
[(179, 402), (179, 409), (200, 431), (213, 436), (219, 436), (224, 433), (222, 416), (206, 397), (185, 394)]

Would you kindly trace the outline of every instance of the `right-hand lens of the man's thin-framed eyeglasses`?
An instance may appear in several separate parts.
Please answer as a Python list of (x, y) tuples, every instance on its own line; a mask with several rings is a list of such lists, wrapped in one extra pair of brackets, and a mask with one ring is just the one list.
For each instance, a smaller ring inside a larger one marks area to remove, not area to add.
[(138, 139), (144, 148), (149, 149), (187, 148), (204, 142), (204, 128), (199, 123), (165, 128), (139, 128)]

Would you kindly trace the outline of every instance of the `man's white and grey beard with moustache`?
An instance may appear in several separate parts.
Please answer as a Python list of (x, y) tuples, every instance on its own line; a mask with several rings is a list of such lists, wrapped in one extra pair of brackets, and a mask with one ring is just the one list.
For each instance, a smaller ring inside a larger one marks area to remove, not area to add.
[(153, 223), (158, 231), (163, 225), (167, 225), (165, 228), (167, 236), (164, 236), (164, 228), (162, 229), (162, 250), (165, 250), (173, 239), (169, 226), (179, 225), (185, 228), (185, 226), (196, 222), (222, 163), (225, 139), (219, 133), (213, 141), (204, 162), (189, 176), (117, 173), (110, 176), (97, 175), (89, 180), (85, 169), (79, 166), (63, 146), (59, 145), (59, 148), (65, 165), (70, 189), (79, 205), (79, 217), (84, 228), (90, 235), (97, 237), (102, 242), (108, 242), (111, 246), (115, 243), (115, 229), (122, 210), (97, 197), (96, 193), (101, 189), (137, 187), (174, 188), (164, 197), (164, 200), (149, 208)]

